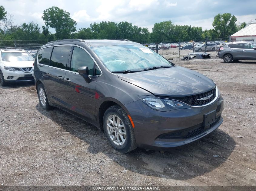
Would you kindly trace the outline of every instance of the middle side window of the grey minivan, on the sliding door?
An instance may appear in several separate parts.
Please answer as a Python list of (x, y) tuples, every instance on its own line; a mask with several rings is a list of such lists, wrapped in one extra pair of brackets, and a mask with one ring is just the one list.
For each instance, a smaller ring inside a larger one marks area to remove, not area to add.
[(55, 46), (52, 51), (51, 66), (68, 69), (71, 46)]

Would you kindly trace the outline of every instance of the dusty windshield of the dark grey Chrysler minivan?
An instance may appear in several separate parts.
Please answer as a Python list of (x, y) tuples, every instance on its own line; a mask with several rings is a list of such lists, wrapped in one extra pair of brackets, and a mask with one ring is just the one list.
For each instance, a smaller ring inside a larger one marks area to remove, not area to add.
[(95, 46), (92, 50), (110, 72), (137, 71), (173, 65), (161, 55), (142, 45)]

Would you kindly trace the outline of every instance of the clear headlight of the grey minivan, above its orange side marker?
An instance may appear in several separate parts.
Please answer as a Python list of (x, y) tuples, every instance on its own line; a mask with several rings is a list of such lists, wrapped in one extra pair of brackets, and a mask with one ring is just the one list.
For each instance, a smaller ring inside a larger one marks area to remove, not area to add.
[(155, 96), (143, 96), (139, 95), (139, 98), (149, 107), (157, 111), (171, 111), (177, 109), (188, 109), (191, 108), (185, 103), (179, 101), (157, 98)]

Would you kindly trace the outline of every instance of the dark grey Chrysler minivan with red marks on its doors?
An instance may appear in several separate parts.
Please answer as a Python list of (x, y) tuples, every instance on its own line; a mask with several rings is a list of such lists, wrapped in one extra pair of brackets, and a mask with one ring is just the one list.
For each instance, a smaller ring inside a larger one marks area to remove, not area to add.
[(43, 109), (58, 107), (103, 129), (123, 153), (185, 145), (223, 122), (211, 79), (128, 40), (47, 43), (34, 73)]

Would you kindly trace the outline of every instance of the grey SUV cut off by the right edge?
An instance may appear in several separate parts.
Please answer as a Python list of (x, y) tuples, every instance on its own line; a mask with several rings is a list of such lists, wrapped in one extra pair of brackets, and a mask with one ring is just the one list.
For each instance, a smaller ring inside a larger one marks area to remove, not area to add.
[(238, 60), (256, 60), (255, 42), (231, 42), (220, 48), (218, 57), (224, 62), (237, 62)]

